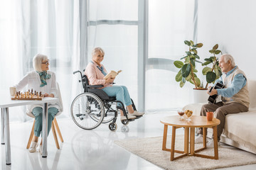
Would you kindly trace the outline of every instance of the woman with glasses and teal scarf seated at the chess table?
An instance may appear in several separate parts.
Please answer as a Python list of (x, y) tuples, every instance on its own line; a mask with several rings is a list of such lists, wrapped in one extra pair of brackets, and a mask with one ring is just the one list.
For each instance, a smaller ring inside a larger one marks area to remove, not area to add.
[[(25, 86), (28, 85), (28, 89), (33, 89), (33, 91), (41, 91), (45, 97), (57, 97), (57, 84), (54, 72), (48, 71), (49, 60), (46, 55), (38, 54), (33, 57), (33, 68), (34, 71), (28, 72), (21, 81), (16, 85), (17, 91), (21, 91)], [(43, 108), (41, 105), (31, 105), (28, 106), (28, 111), (31, 112), (36, 119), (34, 128), (34, 137), (32, 140), (29, 152), (36, 152), (36, 147), (38, 147), (38, 137), (42, 131), (43, 124)], [(55, 115), (58, 113), (58, 103), (52, 103), (48, 106), (48, 134), (52, 125), (52, 121)], [(39, 147), (39, 152), (42, 154), (42, 140)]]

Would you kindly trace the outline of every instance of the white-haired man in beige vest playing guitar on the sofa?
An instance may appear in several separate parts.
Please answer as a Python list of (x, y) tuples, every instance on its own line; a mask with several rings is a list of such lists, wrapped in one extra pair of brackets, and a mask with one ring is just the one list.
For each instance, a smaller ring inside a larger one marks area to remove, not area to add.
[[(223, 89), (209, 88), (208, 94), (221, 95), (221, 101), (218, 103), (208, 103), (201, 108), (201, 115), (206, 116), (206, 112), (215, 112), (215, 117), (220, 120), (217, 127), (218, 142), (225, 125), (225, 116), (228, 114), (247, 112), (249, 108), (249, 92), (247, 89), (247, 78), (235, 65), (235, 61), (231, 55), (225, 54), (220, 56), (219, 67), (223, 75), (215, 82), (225, 87)], [(198, 130), (198, 137), (195, 143), (203, 142), (203, 129)], [(219, 144), (219, 143), (218, 143)], [(213, 147), (213, 140), (207, 143), (207, 147)]]

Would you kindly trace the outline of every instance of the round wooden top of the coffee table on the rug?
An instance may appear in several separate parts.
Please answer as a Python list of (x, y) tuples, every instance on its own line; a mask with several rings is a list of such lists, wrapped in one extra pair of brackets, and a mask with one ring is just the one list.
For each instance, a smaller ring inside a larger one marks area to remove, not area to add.
[(220, 120), (213, 118), (212, 121), (207, 121), (206, 116), (192, 115), (191, 121), (179, 118), (179, 115), (171, 115), (165, 118), (161, 118), (160, 122), (164, 125), (172, 125), (176, 127), (186, 127), (186, 128), (210, 128), (215, 125), (220, 124)]

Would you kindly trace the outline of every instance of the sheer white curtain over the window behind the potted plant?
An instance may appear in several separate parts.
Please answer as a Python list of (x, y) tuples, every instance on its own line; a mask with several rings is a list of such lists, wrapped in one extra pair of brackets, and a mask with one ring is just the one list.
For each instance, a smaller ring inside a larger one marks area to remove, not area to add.
[(195, 1), (149, 0), (149, 47), (146, 63), (146, 111), (170, 111), (191, 102), (192, 88), (175, 81), (174, 61), (193, 40)]

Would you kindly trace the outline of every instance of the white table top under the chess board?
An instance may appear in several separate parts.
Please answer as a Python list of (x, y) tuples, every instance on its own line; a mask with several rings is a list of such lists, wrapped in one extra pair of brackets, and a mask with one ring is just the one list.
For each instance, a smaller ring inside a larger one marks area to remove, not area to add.
[[(7, 91), (8, 92), (8, 91)], [(23, 106), (23, 105), (34, 105), (41, 103), (55, 103), (58, 98), (45, 97), (42, 101), (12, 101), (9, 93), (5, 91), (0, 91), (0, 108), (9, 108), (14, 106)]]

